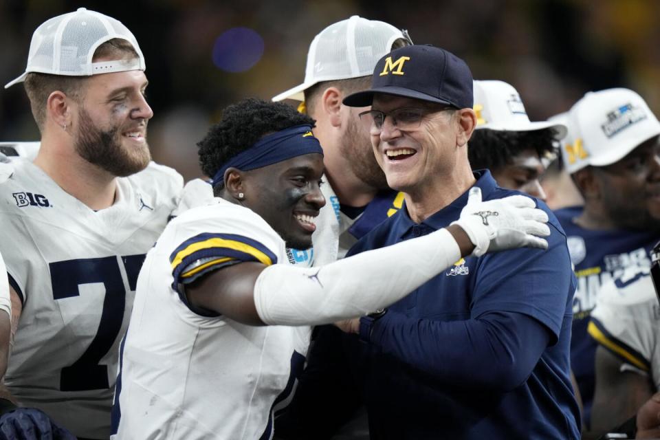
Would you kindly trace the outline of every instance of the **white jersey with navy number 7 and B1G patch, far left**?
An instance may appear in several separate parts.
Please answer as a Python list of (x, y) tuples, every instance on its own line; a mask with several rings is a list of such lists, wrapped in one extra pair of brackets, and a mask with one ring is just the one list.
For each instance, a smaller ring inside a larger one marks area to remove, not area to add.
[(0, 252), (23, 300), (5, 384), (76, 436), (107, 439), (137, 274), (183, 179), (150, 164), (94, 211), (27, 159), (0, 183)]

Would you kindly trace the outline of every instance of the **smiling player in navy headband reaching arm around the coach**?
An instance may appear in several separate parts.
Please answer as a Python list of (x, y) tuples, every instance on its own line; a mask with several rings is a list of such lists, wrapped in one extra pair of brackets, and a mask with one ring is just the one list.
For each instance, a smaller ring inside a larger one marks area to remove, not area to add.
[[(199, 142), (217, 198), (171, 221), (147, 254), (122, 343), (113, 438), (271, 438), (310, 325), (386, 307), (461, 256), (546, 247), (547, 215), (531, 199), (474, 194), (458, 221), (421, 239), (289, 265), (285, 248), (309, 248), (325, 205), (313, 126), (286, 104), (250, 99), (225, 109)], [(485, 211), (497, 214), (483, 221)]]

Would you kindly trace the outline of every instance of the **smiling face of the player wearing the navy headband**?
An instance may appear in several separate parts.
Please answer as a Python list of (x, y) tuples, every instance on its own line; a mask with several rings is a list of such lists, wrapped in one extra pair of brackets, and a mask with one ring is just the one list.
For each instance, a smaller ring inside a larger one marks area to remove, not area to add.
[(263, 217), (289, 248), (307, 249), (325, 205), (319, 188), (323, 170), (323, 156), (309, 153), (241, 171), (244, 198), (239, 203)]

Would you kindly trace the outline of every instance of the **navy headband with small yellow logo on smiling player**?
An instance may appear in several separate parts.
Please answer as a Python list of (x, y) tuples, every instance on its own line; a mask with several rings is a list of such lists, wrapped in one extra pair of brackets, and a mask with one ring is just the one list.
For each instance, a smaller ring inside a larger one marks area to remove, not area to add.
[(277, 131), (225, 162), (213, 176), (213, 187), (224, 182), (225, 171), (230, 167), (249, 171), (310, 153), (323, 154), (321, 144), (311, 133), (311, 125), (296, 125)]

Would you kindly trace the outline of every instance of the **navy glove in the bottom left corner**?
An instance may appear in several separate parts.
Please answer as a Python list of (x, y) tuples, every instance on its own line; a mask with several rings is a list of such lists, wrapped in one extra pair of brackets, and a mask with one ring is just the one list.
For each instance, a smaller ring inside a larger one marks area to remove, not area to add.
[(76, 437), (41, 410), (17, 408), (0, 416), (0, 440), (16, 439), (76, 440)]

